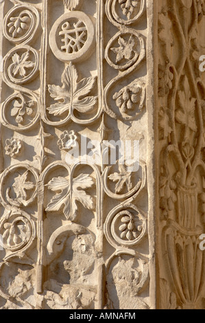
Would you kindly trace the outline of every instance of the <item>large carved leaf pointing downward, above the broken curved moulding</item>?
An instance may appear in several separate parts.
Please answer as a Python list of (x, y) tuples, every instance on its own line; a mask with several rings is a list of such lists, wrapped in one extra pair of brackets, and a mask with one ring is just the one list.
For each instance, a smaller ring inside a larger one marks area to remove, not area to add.
[[(89, 175), (81, 174), (73, 179), (73, 189), (72, 189), (72, 201), (71, 201), (71, 183), (69, 179), (64, 179), (63, 177), (54, 177), (47, 184), (49, 190), (53, 192), (58, 192), (47, 205), (46, 211), (59, 211), (62, 205), (64, 205), (64, 216), (67, 220), (74, 221), (77, 216), (77, 204), (76, 201), (80, 201), (84, 208), (93, 210), (94, 199), (90, 195), (86, 194), (84, 190), (78, 190), (78, 188), (91, 188), (93, 186), (93, 178)], [(59, 192), (60, 191), (60, 192)], [(71, 212), (72, 206), (72, 212)]]

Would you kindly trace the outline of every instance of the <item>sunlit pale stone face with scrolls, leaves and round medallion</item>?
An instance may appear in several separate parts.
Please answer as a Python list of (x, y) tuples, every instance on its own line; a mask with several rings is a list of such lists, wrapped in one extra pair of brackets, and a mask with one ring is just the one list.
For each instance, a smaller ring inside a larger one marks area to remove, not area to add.
[(0, 309), (149, 309), (146, 1), (0, 16)]

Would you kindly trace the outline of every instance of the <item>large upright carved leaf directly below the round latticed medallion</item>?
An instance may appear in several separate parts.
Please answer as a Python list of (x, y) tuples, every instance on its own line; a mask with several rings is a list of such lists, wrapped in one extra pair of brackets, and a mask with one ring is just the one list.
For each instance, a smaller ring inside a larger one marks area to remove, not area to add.
[(62, 87), (49, 85), (51, 98), (59, 101), (47, 108), (50, 114), (62, 115), (64, 112), (77, 110), (81, 113), (87, 113), (93, 110), (97, 102), (96, 96), (88, 96), (93, 89), (96, 78), (84, 78), (77, 82), (77, 71), (70, 64), (62, 74)]

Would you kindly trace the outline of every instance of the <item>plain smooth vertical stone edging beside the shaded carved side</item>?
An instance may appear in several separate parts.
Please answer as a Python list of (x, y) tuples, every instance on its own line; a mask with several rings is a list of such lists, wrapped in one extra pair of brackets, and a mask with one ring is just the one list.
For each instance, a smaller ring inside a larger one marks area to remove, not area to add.
[(158, 212), (157, 158), (157, 86), (158, 71), (158, 0), (147, 0), (147, 190), (148, 190), (148, 236), (149, 236), (149, 292), (150, 307), (156, 309), (156, 214)]

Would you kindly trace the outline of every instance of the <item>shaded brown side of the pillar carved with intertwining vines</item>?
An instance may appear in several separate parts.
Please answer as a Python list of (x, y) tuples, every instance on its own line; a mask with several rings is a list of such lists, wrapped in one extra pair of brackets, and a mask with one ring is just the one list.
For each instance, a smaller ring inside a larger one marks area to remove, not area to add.
[(204, 1), (158, 3), (161, 309), (204, 308), (204, 14)]

